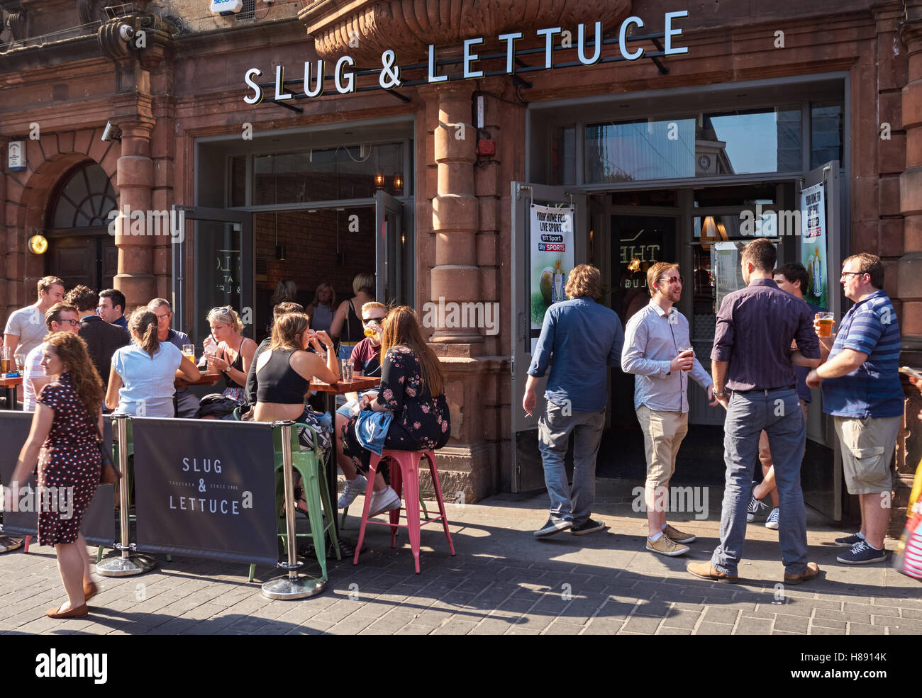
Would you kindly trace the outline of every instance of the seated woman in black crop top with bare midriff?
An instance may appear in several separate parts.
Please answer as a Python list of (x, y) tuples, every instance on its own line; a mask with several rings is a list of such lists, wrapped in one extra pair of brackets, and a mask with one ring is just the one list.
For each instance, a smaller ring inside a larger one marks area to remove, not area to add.
[[(305, 351), (308, 346), (313, 346), (316, 354)], [(327, 383), (339, 379), (339, 361), (333, 351), (333, 341), (326, 332), (313, 332), (304, 313), (279, 316), (272, 325), (269, 348), (256, 361), (254, 421), (292, 420), (313, 427), (320, 437), (324, 460), (328, 460), (331, 434), (320, 425), (316, 413), (304, 404), (314, 377)], [(313, 434), (309, 429), (299, 427), (298, 439), (302, 450), (313, 448)]]

